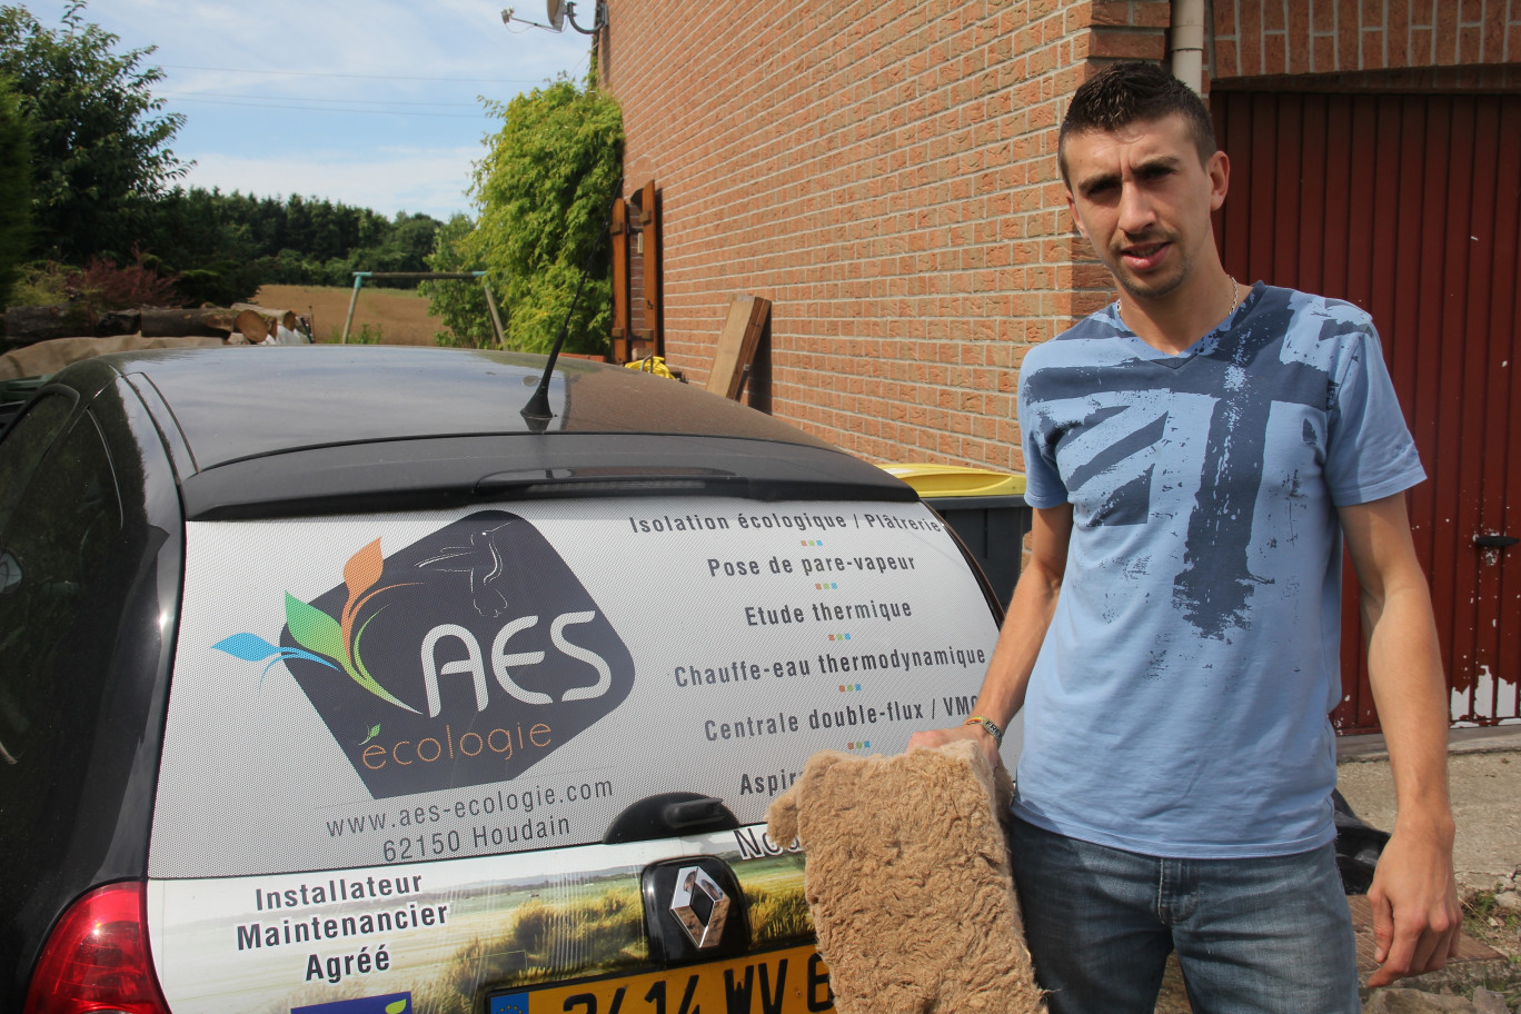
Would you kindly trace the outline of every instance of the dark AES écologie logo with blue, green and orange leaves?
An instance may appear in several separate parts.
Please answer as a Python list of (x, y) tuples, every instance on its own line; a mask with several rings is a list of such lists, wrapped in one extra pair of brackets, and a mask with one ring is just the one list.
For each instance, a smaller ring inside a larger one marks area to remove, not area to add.
[[(628, 696), (634, 663), (564, 559), (482, 511), (389, 556), (377, 538), (310, 602), (284, 594), (284, 663), (374, 798), (506, 781)], [(461, 692), (462, 687), (462, 692)]]

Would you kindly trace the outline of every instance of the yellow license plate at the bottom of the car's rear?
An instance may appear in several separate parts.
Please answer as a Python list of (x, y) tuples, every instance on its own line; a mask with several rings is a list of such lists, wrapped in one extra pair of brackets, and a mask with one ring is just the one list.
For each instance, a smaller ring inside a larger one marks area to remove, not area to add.
[(488, 1014), (824, 1014), (829, 967), (812, 947), (642, 976), (499, 993)]

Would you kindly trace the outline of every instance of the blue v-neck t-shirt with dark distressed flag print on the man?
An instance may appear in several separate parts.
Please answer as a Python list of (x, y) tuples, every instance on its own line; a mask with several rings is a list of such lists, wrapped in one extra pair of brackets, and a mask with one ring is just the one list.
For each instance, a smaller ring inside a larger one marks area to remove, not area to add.
[(1369, 316), (1258, 283), (1168, 356), (1110, 306), (1030, 351), (1019, 424), (1072, 538), (1015, 812), (1156, 856), (1331, 841), (1335, 508), (1425, 477)]

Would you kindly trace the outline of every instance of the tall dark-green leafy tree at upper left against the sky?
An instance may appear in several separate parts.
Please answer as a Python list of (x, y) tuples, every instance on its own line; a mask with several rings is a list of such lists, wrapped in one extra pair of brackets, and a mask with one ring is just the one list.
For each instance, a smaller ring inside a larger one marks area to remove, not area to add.
[(0, 74), (14, 79), (32, 134), (33, 225), (44, 252), (82, 263), (122, 258), (140, 205), (187, 166), (169, 149), (184, 123), (163, 112), (143, 67), (154, 47), (116, 52), (119, 36), (71, 3), (50, 30), (26, 8), (0, 6)]

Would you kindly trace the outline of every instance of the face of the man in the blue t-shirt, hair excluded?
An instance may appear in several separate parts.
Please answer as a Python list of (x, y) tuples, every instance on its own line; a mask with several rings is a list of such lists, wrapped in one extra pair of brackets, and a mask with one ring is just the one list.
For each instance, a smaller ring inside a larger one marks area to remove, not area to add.
[(1126, 292), (1161, 298), (1214, 258), (1209, 213), (1226, 198), (1223, 152), (1200, 164), (1182, 116), (1066, 138), (1066, 204)]

